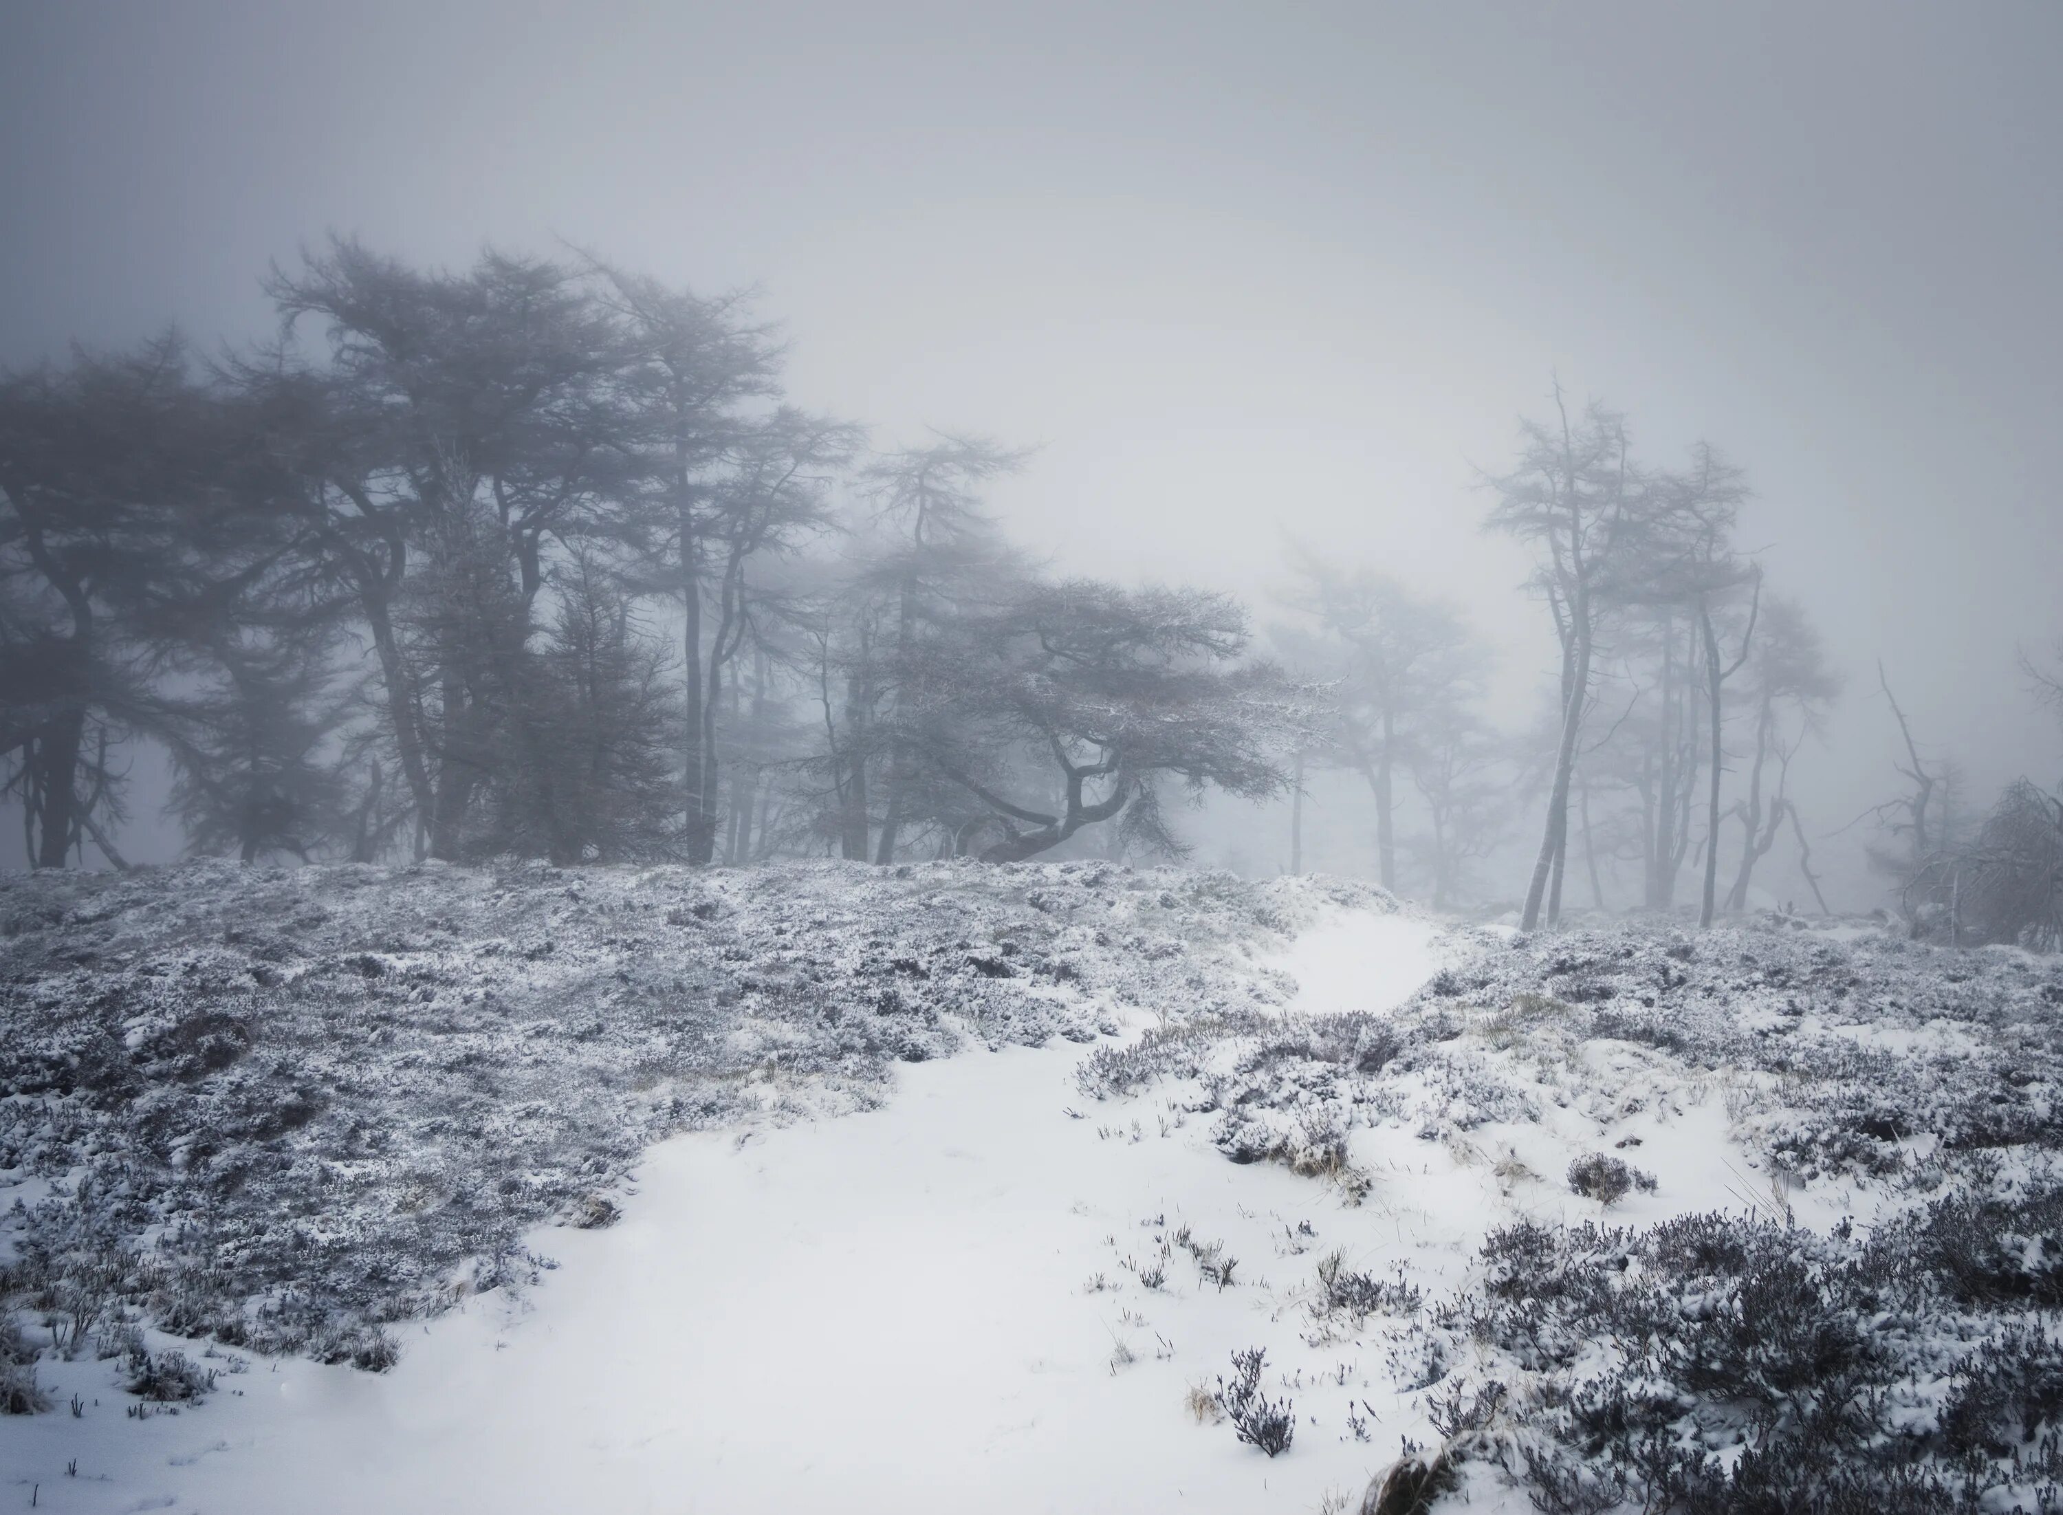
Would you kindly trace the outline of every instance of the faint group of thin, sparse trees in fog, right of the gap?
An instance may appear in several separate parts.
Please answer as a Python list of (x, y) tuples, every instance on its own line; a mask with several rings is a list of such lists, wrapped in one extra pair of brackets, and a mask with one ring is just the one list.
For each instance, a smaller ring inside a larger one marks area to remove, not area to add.
[(1397, 883), (1409, 776), (1421, 877), (1442, 904), (1508, 840), (1516, 797), (1539, 805), (1518, 906), (1529, 931), (1558, 923), (1572, 888), (1611, 908), (1607, 879), (1626, 869), (1646, 910), (1675, 908), (1692, 869), (1708, 925), (1747, 908), (1787, 826), (1818, 892), (1787, 780), (1840, 679), (1803, 607), (1766, 592), (1733, 543), (1743, 475), (1708, 446), (1681, 469), (1642, 462), (1624, 415), (1572, 415), (1558, 392), (1553, 419), (1522, 423), (1514, 466), (1483, 485), (1485, 526), (1535, 553), (1529, 588), (1556, 636), (1560, 677), (1539, 729), (1506, 735), (1483, 718), (1483, 654), (1452, 609), (1316, 553), (1296, 555), (1285, 594), (1302, 615), (1279, 634), (1285, 656), (1337, 689), (1306, 760), (1366, 778), (1382, 881)]

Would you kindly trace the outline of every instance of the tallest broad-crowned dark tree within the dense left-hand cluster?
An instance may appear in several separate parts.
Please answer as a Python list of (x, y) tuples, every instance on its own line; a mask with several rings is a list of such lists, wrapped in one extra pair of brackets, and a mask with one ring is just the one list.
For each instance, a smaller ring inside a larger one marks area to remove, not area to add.
[(336, 241), (270, 291), (328, 341), (324, 363), (237, 372), (272, 423), (276, 508), (357, 597), (419, 846), (456, 859), (474, 801), (538, 753), (520, 696), (551, 555), (642, 466), (623, 334), (576, 272), (497, 254), (429, 275)]

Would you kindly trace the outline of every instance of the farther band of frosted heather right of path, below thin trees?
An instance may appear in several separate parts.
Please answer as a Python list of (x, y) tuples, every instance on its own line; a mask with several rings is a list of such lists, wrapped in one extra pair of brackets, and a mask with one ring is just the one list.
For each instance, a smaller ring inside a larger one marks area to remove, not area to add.
[(1628, 923), (1485, 945), (1386, 1016), (1186, 1020), (1077, 1077), (1106, 1100), (1188, 1086), (1227, 1158), (1310, 1170), (1308, 1133), (1446, 1141), (1549, 1106), (1611, 1125), (1718, 1077), (1733, 1133), (1787, 1183), (1927, 1195), (1985, 1154), (2063, 1148), (2063, 960)]

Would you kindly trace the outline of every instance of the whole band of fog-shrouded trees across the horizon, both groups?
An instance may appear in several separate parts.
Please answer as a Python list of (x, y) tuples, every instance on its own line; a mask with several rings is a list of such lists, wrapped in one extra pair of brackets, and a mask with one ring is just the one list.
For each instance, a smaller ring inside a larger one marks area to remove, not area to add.
[[(1824, 914), (1813, 840), (1865, 826), (1914, 931), (2057, 945), (2057, 797), (1966, 793), (1739, 541), (1743, 466), (1655, 458), (1560, 384), (1479, 479), (1560, 665), (1500, 727), (1465, 613), (1327, 543), (1273, 543), (1260, 605), (1054, 572), (986, 506), (1036, 450), (790, 405), (745, 295), (349, 239), (266, 291), (274, 341), (0, 386), (0, 782), (35, 867), (126, 867), (140, 747), (188, 846), (245, 863), (1153, 861), (1219, 795), (1296, 873), (1322, 784), (1355, 871), (1525, 927)], [(1813, 815), (1793, 766), (1844, 696), (1898, 780)]]

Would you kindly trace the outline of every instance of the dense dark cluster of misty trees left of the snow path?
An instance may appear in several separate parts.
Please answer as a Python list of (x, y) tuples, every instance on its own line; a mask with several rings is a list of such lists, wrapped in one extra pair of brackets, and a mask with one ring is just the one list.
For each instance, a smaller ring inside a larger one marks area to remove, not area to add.
[(1174, 850), (1308, 698), (1238, 603), (1054, 578), (1021, 454), (871, 452), (739, 297), (336, 241), (281, 336), (0, 382), (0, 760), (35, 865), (120, 861), (124, 753), (200, 850), (745, 863)]

